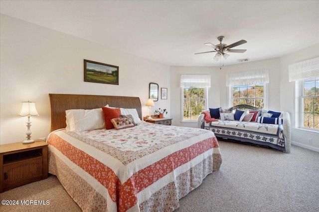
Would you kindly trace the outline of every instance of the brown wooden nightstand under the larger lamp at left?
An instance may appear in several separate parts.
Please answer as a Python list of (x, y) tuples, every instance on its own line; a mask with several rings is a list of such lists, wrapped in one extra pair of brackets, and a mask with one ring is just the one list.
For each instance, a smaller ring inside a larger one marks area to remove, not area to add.
[(0, 193), (48, 177), (48, 144), (42, 140), (0, 145)]

